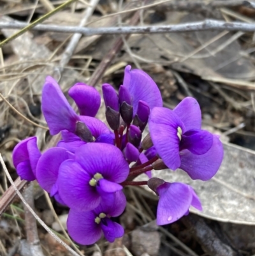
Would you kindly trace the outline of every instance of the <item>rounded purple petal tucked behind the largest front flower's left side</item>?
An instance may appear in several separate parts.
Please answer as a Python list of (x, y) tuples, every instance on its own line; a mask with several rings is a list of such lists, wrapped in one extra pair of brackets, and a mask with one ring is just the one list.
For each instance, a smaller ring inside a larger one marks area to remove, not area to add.
[(69, 159), (69, 154), (62, 147), (52, 147), (42, 154), (36, 167), (36, 178), (40, 186), (48, 193), (57, 181), (59, 167)]

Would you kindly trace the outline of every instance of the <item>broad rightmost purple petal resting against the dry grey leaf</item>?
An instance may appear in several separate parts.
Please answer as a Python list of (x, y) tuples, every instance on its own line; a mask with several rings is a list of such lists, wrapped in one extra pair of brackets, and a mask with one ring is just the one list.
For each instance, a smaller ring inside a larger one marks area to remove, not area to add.
[(180, 169), (185, 170), (191, 179), (208, 181), (219, 170), (223, 159), (223, 147), (216, 135), (213, 136), (212, 147), (205, 154), (193, 154), (188, 150), (181, 151)]

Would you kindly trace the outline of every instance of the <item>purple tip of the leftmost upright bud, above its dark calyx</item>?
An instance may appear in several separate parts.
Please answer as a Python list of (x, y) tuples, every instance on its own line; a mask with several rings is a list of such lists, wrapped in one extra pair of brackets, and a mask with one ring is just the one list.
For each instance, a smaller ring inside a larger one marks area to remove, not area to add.
[(105, 100), (105, 107), (119, 112), (119, 97), (115, 89), (110, 84), (103, 84), (103, 98)]

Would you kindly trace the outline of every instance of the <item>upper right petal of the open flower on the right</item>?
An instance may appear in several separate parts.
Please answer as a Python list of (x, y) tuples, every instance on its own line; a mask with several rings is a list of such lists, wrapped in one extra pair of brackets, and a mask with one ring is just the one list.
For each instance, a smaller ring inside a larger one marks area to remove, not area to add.
[(177, 114), (184, 123), (187, 130), (201, 129), (201, 110), (200, 105), (196, 99), (192, 97), (184, 98), (176, 107), (173, 112)]

